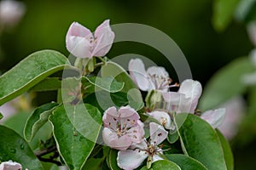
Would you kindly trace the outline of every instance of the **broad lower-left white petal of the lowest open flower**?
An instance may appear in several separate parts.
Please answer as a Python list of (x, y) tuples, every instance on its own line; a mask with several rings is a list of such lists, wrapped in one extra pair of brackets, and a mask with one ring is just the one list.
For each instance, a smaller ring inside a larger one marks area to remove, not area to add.
[(117, 163), (120, 168), (132, 170), (139, 167), (147, 157), (146, 151), (119, 150)]

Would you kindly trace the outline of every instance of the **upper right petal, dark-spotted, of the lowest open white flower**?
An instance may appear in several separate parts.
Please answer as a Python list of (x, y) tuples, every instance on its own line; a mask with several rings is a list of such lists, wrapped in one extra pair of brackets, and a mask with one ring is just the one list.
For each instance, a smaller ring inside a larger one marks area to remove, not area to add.
[(151, 144), (160, 144), (162, 143), (166, 138), (168, 132), (165, 130), (164, 127), (161, 125), (155, 123), (155, 122), (150, 122), (149, 123), (149, 133), (150, 133), (150, 143)]

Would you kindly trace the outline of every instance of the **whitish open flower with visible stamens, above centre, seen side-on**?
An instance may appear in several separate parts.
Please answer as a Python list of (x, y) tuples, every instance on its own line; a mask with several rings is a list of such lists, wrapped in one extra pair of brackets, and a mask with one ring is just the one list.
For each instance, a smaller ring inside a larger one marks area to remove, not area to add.
[(142, 59), (131, 59), (128, 70), (133, 82), (143, 91), (160, 90), (167, 92), (172, 79), (164, 67), (150, 66), (146, 71)]

